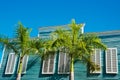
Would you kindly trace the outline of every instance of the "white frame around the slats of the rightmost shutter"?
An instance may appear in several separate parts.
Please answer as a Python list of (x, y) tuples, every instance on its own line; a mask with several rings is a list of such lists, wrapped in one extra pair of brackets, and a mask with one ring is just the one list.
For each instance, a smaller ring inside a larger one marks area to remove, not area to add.
[[(113, 71), (113, 64), (114, 64), (114, 63), (113, 63), (113, 56), (112, 56), (112, 54), (113, 54), (113, 53), (112, 53), (112, 50), (113, 50), (113, 49), (116, 51), (116, 53), (115, 53), (115, 56), (116, 56), (116, 59), (115, 59), (115, 60), (116, 60), (116, 67), (115, 67), (115, 68), (116, 68), (116, 72)], [(111, 60), (111, 63), (110, 63), (110, 67), (111, 67), (111, 68), (110, 68), (110, 69), (111, 69), (111, 71), (108, 71), (108, 70), (107, 70), (107, 69), (108, 69), (108, 68), (107, 68), (107, 62), (108, 62), (108, 61), (107, 61), (107, 50), (106, 50), (106, 73), (111, 73), (111, 74), (115, 73), (115, 74), (117, 74), (117, 73), (118, 73), (117, 48), (108, 48), (108, 50), (110, 50), (110, 60)]]

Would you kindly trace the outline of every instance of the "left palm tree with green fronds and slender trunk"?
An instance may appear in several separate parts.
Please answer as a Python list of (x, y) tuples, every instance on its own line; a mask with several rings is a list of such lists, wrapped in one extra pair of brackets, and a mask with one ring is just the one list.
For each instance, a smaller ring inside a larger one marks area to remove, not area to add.
[(31, 29), (25, 28), (19, 22), (14, 39), (0, 36), (0, 44), (2, 46), (5, 45), (7, 49), (12, 49), (15, 54), (19, 56), (20, 63), (18, 65), (19, 67), (16, 80), (21, 79), (23, 57), (31, 53), (41, 53), (40, 48), (43, 46), (42, 41), (38, 38), (30, 39), (30, 32)]

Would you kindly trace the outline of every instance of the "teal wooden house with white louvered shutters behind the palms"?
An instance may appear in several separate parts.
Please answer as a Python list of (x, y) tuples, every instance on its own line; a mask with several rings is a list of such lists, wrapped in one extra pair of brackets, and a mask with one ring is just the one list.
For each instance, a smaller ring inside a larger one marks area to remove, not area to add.
[[(38, 36), (46, 39), (54, 30), (54, 27), (40, 28)], [(120, 80), (120, 30), (97, 34), (108, 46), (106, 51), (94, 50), (92, 60), (100, 65), (100, 70), (91, 72), (87, 65), (76, 61), (74, 78), (75, 80)], [(19, 57), (13, 51), (7, 50), (6, 46), (1, 53), (0, 80), (15, 80)], [(22, 80), (69, 80), (69, 58), (62, 51), (56, 53), (46, 60), (41, 60), (38, 55), (25, 56)]]

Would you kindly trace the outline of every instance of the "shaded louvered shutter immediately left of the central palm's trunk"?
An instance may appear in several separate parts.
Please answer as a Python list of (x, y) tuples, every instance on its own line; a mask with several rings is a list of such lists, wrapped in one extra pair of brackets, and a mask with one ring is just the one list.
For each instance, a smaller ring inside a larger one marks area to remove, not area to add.
[(70, 70), (70, 59), (68, 55), (62, 51), (59, 52), (58, 73), (68, 74)]

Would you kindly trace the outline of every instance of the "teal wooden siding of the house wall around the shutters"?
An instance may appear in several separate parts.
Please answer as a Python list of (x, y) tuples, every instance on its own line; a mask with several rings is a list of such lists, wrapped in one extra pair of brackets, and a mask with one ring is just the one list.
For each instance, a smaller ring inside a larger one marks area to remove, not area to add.
[[(74, 65), (74, 77), (75, 80), (120, 80), (120, 32), (118, 34), (110, 33), (100, 35), (103, 43), (105, 43), (108, 48), (117, 48), (118, 56), (118, 74), (106, 74), (105, 69), (105, 51), (101, 53), (101, 67), (102, 72), (100, 74), (91, 74), (87, 68), (87, 65), (82, 64), (80, 61), (75, 61)], [(8, 59), (8, 54), (10, 51), (5, 50), (2, 65), (0, 68), (0, 80), (15, 80), (17, 74), (18, 65), (14, 74), (5, 75), (5, 69)], [(54, 74), (42, 74), (42, 60), (37, 55), (30, 55), (27, 64), (26, 73), (22, 75), (22, 80), (69, 80), (69, 74), (58, 74), (58, 57), (56, 55), (55, 60), (55, 72)], [(17, 58), (17, 63), (19, 59)]]

